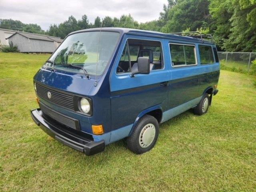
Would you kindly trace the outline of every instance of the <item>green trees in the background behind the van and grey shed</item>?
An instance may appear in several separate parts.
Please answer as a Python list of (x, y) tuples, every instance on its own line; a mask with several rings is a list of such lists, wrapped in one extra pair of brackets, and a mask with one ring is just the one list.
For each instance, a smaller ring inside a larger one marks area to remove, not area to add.
[(138, 23), (129, 15), (96, 17), (94, 23), (83, 15), (74, 16), (43, 31), (37, 24), (0, 20), (0, 28), (48, 34), (64, 38), (70, 32), (100, 27), (124, 27), (164, 33), (202, 31), (211, 33), (218, 50), (256, 52), (256, 0), (168, 0), (157, 20)]

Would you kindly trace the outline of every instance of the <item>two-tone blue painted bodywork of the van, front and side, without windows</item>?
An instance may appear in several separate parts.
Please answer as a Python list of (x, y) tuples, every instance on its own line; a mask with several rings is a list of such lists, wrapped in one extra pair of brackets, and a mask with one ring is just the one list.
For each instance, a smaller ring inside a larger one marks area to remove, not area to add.
[[(99, 30), (81, 30), (71, 34)], [(118, 32), (120, 37), (106, 70), (97, 77), (97, 86), (94, 86), (95, 76), (87, 79), (82, 73), (57, 68), (54, 71), (41, 68), (34, 76), (35, 82), (92, 99), (93, 115), (86, 116), (39, 98), (40, 102), (53, 110), (79, 120), (81, 131), (92, 135), (95, 142), (104, 140), (105, 144), (109, 144), (129, 136), (144, 114), (152, 114), (158, 122), (164, 122), (196, 106), (202, 95), (208, 90), (212, 91), (218, 83), (218, 61), (214, 64), (200, 64), (198, 45), (207, 44), (214, 48), (215, 45), (211, 42), (124, 28), (102, 28), (102, 31)], [(159, 41), (162, 45), (164, 67), (152, 70), (150, 74), (137, 74), (134, 77), (130, 77), (130, 73), (117, 74), (116, 69), (128, 39)], [(170, 43), (194, 45), (197, 64), (172, 66)], [(104, 134), (92, 134), (91, 127), (97, 124), (103, 125)]]

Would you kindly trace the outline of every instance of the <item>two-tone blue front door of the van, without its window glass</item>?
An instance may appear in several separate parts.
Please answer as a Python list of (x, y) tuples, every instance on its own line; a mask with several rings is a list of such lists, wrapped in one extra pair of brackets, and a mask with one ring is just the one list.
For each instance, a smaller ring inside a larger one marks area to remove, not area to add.
[[(125, 39), (127, 38), (138, 39), (138, 36), (126, 35)], [(163, 43), (161, 38), (141, 36), (139, 39)], [(166, 68), (150, 71), (150, 74), (136, 74), (134, 77), (130, 77), (129, 73), (116, 74), (125, 42), (126, 40), (123, 41), (110, 77), (112, 130), (133, 124), (140, 112), (167, 100), (167, 84), (164, 82), (170, 79), (170, 71)], [(164, 52), (163, 45), (162, 49)]]

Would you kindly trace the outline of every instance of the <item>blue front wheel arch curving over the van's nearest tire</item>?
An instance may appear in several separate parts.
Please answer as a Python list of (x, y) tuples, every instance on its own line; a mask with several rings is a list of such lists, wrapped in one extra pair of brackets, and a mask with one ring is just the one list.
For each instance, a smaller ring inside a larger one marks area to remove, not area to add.
[(144, 116), (144, 115), (151, 115), (153, 116), (154, 118), (156, 118), (156, 120), (158, 121), (158, 123), (161, 122), (162, 120), (162, 115), (163, 115), (163, 112), (162, 112), (162, 108), (159, 106), (159, 105), (156, 105), (156, 106), (152, 106), (150, 108), (147, 108), (145, 110), (143, 110), (142, 112), (140, 112), (140, 114), (138, 114), (138, 116), (136, 117), (135, 121), (134, 121), (134, 124), (132, 126), (132, 129), (129, 133), (129, 136), (130, 134), (132, 134), (133, 130), (134, 130), (134, 127), (136, 126), (136, 124), (138, 123), (138, 121)]

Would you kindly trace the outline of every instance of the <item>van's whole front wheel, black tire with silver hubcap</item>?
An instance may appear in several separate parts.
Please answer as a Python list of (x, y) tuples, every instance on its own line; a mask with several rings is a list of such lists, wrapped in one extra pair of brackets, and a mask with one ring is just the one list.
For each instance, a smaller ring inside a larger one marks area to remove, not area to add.
[(156, 118), (144, 115), (136, 124), (133, 133), (126, 139), (128, 148), (142, 154), (151, 150), (156, 144), (159, 134), (159, 124)]

